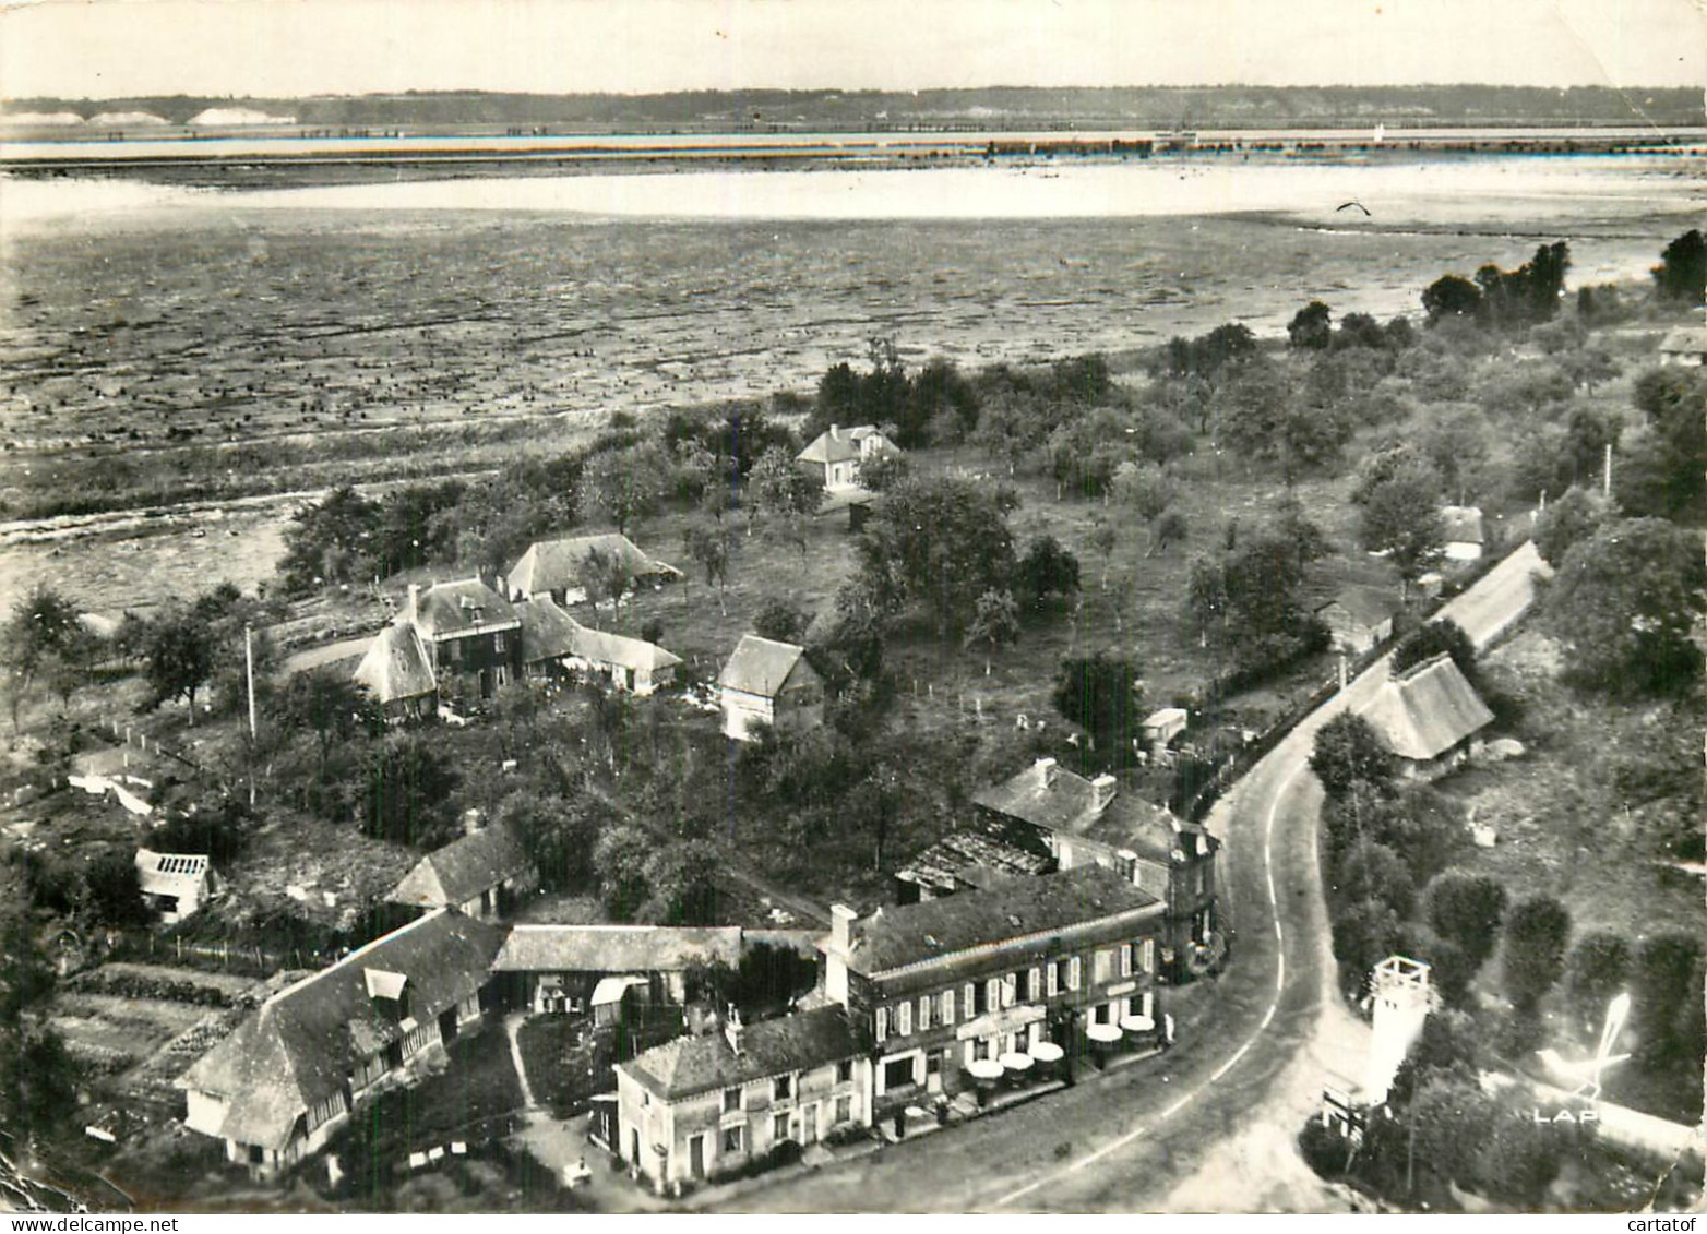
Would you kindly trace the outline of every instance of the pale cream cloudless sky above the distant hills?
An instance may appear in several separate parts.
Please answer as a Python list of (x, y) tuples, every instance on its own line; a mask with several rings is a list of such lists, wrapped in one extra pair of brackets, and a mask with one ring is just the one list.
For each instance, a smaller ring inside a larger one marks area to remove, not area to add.
[(1707, 0), (12, 0), (0, 97), (1707, 85)]

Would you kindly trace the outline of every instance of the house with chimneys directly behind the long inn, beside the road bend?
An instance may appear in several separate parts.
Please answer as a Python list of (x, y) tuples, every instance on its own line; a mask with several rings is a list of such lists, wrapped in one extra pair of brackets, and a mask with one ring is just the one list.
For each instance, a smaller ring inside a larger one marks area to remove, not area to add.
[(1166, 905), (1162, 968), (1176, 980), (1219, 959), (1215, 862), (1221, 841), (1162, 806), (1086, 780), (1041, 758), (973, 797), (1011, 840), (1046, 852), (1057, 869), (1103, 865)]

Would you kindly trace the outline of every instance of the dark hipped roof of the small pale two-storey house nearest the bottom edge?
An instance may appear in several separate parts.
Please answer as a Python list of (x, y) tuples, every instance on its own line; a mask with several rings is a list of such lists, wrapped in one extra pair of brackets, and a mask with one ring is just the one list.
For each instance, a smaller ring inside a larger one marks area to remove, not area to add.
[(741, 1053), (722, 1033), (710, 1033), (666, 1041), (618, 1067), (655, 1096), (676, 1101), (855, 1058), (864, 1048), (842, 1007), (821, 1007), (748, 1026), (741, 1033)]

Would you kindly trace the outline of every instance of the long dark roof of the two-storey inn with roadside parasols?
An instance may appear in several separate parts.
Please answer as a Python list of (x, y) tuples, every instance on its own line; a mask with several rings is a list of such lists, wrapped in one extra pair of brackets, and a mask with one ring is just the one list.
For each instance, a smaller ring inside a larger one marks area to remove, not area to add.
[(847, 966), (871, 976), (1149, 908), (1159, 915), (1161, 901), (1101, 865), (1012, 879), (987, 891), (879, 908), (854, 923)]

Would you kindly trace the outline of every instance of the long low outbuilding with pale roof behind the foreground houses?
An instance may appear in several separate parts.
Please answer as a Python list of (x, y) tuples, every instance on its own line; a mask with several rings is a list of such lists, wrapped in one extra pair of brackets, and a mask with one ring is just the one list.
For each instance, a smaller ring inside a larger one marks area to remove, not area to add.
[(739, 964), (741, 949), (741, 928), (732, 925), (517, 925), (492, 969), (534, 1010), (589, 1010), (601, 987), (633, 985), (645, 1002), (685, 1004), (690, 968)]

